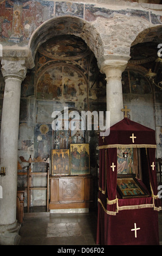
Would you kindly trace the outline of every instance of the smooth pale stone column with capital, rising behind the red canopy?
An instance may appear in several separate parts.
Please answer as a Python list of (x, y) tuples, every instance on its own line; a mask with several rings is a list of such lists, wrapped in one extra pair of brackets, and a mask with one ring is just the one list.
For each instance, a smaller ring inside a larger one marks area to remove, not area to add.
[(127, 60), (105, 60), (101, 64), (101, 72), (106, 74), (106, 104), (110, 112), (110, 126), (124, 118), (121, 75), (125, 70)]

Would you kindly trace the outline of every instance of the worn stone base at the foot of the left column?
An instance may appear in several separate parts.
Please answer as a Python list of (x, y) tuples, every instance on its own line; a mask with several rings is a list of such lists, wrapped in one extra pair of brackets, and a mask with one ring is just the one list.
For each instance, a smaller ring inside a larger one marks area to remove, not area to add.
[(21, 228), (20, 223), (13, 223), (9, 225), (0, 225), (0, 245), (18, 245), (21, 236), (18, 232)]

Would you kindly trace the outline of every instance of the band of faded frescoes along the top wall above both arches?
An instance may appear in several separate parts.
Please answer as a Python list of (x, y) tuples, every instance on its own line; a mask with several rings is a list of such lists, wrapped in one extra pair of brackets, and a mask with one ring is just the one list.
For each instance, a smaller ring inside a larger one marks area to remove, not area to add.
[[(52, 17), (68, 15), (94, 21), (98, 17), (112, 19), (116, 14), (150, 21), (149, 13), (145, 10), (111, 10), (95, 7), (94, 4), (74, 2), (4, 0), (0, 1), (0, 41), (8, 45), (26, 45), (35, 29)], [(151, 12), (151, 21), (153, 24), (160, 24), (161, 16)], [(59, 27), (61, 31), (62, 26)], [(77, 29), (74, 24), (73, 31)]]

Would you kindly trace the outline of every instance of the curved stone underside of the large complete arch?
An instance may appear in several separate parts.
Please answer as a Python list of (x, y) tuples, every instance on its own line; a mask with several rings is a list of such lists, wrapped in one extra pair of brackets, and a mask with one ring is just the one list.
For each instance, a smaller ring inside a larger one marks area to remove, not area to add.
[(55, 17), (43, 22), (31, 35), (29, 48), (35, 58), (36, 51), (40, 45), (53, 36), (72, 34), (82, 38), (90, 50), (94, 53), (96, 59), (103, 54), (103, 42), (100, 34), (90, 25), (89, 22), (72, 16)]

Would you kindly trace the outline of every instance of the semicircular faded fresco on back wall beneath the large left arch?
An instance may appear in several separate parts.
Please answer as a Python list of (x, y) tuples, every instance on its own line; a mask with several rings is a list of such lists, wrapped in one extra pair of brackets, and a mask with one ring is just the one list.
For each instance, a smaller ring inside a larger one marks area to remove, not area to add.
[(49, 68), (37, 83), (37, 99), (85, 101), (87, 84), (75, 69), (69, 66)]

